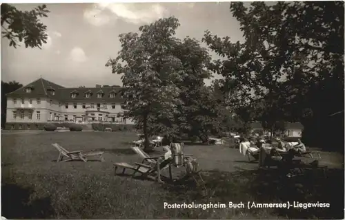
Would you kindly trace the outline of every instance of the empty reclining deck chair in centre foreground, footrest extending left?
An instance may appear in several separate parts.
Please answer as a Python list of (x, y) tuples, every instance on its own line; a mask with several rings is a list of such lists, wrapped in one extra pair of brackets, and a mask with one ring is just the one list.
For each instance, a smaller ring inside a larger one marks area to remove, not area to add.
[[(164, 159), (164, 160), (157, 160), (156, 164), (140, 164), (135, 163), (135, 166), (128, 164), (128, 163), (115, 163), (113, 164), (115, 166), (115, 175), (117, 175), (117, 168), (121, 167), (123, 168), (122, 174), (125, 173), (126, 169), (134, 170), (132, 173), (132, 177), (135, 177), (137, 173), (141, 174), (141, 177), (146, 177), (148, 179), (152, 179), (154, 181), (158, 181), (159, 183), (164, 183), (164, 181), (161, 180), (161, 177), (165, 177), (164, 175), (161, 175), (161, 170), (166, 168), (167, 166), (170, 168), (172, 158)], [(171, 168), (170, 168), (171, 169)], [(172, 179), (171, 176), (171, 170), (169, 172), (170, 177), (166, 177), (167, 179)]]

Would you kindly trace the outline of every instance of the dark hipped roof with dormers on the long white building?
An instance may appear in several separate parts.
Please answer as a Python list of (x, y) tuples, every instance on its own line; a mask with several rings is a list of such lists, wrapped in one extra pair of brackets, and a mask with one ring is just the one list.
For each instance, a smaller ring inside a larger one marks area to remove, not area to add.
[[(30, 93), (26, 92), (26, 88), (31, 88)], [(57, 85), (43, 78), (39, 78), (28, 85), (25, 85), (9, 94), (12, 98), (51, 98), (60, 102), (123, 102), (119, 91), (121, 87), (72, 87), (66, 88)], [(54, 91), (54, 93), (52, 93)], [(103, 92), (102, 98), (97, 98), (97, 93)], [(72, 94), (76, 94), (76, 98), (72, 98)], [(86, 94), (90, 94), (90, 98), (86, 98)], [(110, 98), (110, 94), (115, 93), (115, 98)]]

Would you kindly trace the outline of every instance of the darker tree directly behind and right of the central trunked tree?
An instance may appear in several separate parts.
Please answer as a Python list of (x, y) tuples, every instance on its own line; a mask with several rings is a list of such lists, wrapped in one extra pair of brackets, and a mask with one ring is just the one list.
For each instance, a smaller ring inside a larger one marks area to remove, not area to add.
[(224, 128), (221, 126), (221, 109), (212, 87), (206, 87), (204, 80), (211, 77), (207, 67), (211, 58), (208, 50), (201, 47), (196, 39), (186, 37), (177, 42), (174, 54), (182, 63), (183, 78), (177, 82), (180, 89), (181, 104), (177, 106), (175, 124), (179, 134), (199, 137), (208, 141), (208, 135), (217, 135)]

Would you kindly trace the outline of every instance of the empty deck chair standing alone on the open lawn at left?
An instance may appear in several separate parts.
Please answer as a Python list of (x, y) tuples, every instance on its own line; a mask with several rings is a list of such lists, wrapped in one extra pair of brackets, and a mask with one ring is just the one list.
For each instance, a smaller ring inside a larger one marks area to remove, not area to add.
[[(103, 159), (103, 151), (95, 151), (95, 152), (88, 152), (88, 153), (82, 153), (81, 151), (67, 151), (63, 146), (55, 143), (52, 144), (57, 150), (59, 151), (59, 157), (57, 157), (57, 162), (68, 162), (72, 160), (81, 160), (83, 162), (88, 162), (87, 157), (91, 156), (98, 156), (101, 162), (104, 161)], [(66, 159), (63, 159), (63, 157), (66, 157)]]

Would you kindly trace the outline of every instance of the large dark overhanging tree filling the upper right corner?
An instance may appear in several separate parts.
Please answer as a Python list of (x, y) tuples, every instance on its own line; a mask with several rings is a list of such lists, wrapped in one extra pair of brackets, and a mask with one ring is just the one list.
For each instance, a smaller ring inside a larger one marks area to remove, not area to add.
[[(224, 81), (235, 80), (238, 105), (253, 107), (253, 102), (277, 97), (271, 99), (283, 110), (277, 120), (300, 120), (331, 135), (330, 124), (320, 125), (331, 112), (344, 109), (344, 2), (254, 2), (249, 8), (231, 3), (230, 10), (244, 32), (244, 43), (210, 32), (204, 41), (227, 57), (215, 61), (212, 69)], [(327, 104), (316, 102), (317, 95)], [(341, 126), (333, 126), (333, 132), (344, 131)], [(321, 137), (322, 131), (315, 136)], [(337, 141), (344, 142), (340, 137)]]

